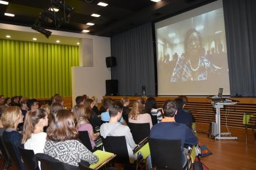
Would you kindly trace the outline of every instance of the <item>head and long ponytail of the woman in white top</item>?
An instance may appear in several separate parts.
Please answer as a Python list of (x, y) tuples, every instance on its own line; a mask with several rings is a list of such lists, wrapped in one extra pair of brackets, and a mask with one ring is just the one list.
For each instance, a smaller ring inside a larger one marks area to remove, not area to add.
[(35, 128), (43, 128), (48, 126), (48, 114), (42, 108), (28, 111), (23, 124), (23, 138), (22, 143), (25, 143), (31, 138), (31, 134), (34, 133)]

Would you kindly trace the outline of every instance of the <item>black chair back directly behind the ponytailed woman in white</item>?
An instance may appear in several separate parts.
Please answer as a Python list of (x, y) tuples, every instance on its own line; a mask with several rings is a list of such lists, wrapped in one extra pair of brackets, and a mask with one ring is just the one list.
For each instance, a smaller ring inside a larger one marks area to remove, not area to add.
[(18, 147), (20, 155), (22, 155), (22, 160), (26, 167), (26, 170), (40, 170), (38, 167), (38, 161), (35, 160), (35, 154), (33, 150), (24, 149), (23, 147)]

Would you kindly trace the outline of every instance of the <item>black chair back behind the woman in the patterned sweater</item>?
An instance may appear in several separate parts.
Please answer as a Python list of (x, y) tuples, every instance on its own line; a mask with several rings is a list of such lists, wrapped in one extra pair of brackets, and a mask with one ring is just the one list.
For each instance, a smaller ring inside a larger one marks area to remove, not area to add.
[(37, 160), (41, 162), (42, 170), (56, 170), (56, 169), (78, 170), (79, 169), (79, 167), (66, 164), (64, 162), (56, 160), (55, 158), (43, 153), (35, 154), (35, 158), (37, 158)]

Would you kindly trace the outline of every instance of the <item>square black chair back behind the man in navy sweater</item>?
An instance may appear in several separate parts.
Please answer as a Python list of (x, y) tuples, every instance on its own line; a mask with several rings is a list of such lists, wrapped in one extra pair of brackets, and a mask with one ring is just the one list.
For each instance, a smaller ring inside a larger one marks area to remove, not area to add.
[(149, 138), (152, 167), (159, 169), (182, 169), (180, 140)]

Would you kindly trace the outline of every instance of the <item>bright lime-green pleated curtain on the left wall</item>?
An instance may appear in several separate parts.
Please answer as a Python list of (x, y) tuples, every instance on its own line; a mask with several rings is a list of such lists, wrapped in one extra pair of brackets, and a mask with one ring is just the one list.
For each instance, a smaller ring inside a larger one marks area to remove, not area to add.
[(72, 66), (79, 46), (0, 39), (0, 95), (72, 96)]

